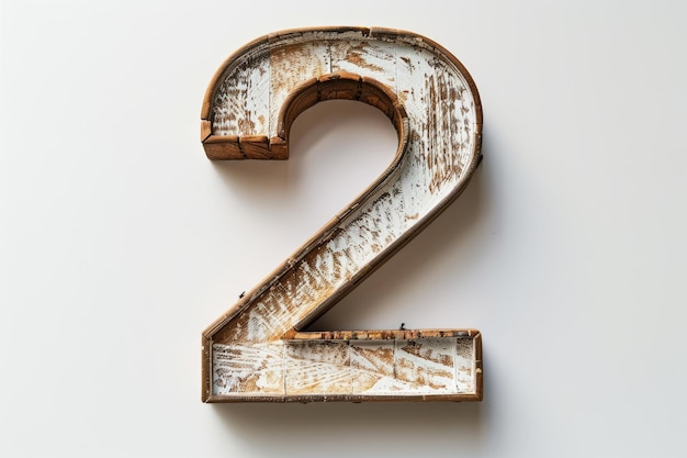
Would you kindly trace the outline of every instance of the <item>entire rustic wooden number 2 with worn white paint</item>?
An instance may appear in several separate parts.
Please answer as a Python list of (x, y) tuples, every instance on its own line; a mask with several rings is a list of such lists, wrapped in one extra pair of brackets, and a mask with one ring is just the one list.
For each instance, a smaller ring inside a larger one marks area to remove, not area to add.
[(359, 100), (398, 134), (392, 164), (202, 338), (204, 402), (478, 401), (475, 329), (303, 331), (419, 233), (481, 160), (474, 81), (448, 51), (409, 32), (283, 31), (221, 66), (205, 93), (210, 159), (286, 159), (296, 116)]

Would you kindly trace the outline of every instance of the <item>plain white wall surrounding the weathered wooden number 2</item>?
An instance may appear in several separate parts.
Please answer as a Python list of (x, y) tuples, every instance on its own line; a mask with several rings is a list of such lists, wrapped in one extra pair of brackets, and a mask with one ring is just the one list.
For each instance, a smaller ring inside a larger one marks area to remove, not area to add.
[[(687, 7), (3, 1), (3, 457), (685, 456)], [(468, 67), (485, 159), (316, 324), (476, 327), (482, 403), (200, 402), (200, 336), (382, 171), (378, 111), (211, 163), (205, 88), (260, 35), (375, 25)]]

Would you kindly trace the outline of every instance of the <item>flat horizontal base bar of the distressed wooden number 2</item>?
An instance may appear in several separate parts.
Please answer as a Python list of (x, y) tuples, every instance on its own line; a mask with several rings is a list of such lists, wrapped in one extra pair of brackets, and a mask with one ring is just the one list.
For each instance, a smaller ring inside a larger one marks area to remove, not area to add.
[(215, 395), (301, 402), (477, 395), (476, 331), (317, 334), (267, 344), (215, 344)]

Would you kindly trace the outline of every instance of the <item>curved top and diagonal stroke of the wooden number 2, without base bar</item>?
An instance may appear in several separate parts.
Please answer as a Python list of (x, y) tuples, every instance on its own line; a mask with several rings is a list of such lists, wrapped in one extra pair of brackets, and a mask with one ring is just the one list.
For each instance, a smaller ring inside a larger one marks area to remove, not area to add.
[[(279, 32), (232, 55), (203, 101), (205, 153), (211, 159), (285, 159), (295, 118), (330, 99), (384, 112), (398, 133), (396, 155), (205, 331), (215, 343), (278, 339), (302, 329), (446, 209), (480, 163), (482, 108), (463, 65), (424, 36), (367, 27)], [(240, 313), (249, 306), (256, 316)], [(240, 322), (232, 325), (234, 317)]]

